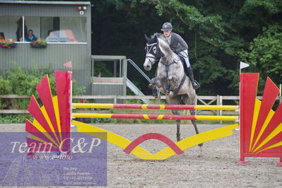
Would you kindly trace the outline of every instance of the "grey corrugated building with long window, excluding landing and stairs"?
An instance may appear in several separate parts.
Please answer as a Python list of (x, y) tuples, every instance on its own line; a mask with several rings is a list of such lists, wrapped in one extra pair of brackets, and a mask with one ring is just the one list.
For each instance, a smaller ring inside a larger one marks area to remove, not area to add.
[[(28, 30), (47, 39), (46, 48), (33, 48)], [(0, 48), (0, 71), (25, 69), (68, 70), (72, 61), (78, 86), (91, 91), (91, 4), (88, 1), (0, 1), (0, 33), (16, 40), (12, 49)]]

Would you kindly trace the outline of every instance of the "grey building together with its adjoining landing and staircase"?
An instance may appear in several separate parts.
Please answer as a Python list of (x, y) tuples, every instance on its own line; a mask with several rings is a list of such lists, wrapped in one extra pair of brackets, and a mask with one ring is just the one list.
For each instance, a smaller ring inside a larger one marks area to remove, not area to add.
[[(30, 30), (35, 37), (47, 40), (45, 48), (35, 48), (27, 41), (33, 36)], [(146, 76), (134, 61), (124, 56), (91, 55), (89, 1), (0, 0), (0, 34), (6, 40), (16, 40), (16, 47), (0, 47), (0, 74), (12, 69), (14, 62), (23, 69), (69, 70), (63, 64), (72, 61), (73, 78), (78, 86), (86, 87), (86, 95), (127, 95), (127, 87), (143, 95), (127, 78), (127, 62)], [(99, 61), (111, 61), (111, 77), (94, 74)]]

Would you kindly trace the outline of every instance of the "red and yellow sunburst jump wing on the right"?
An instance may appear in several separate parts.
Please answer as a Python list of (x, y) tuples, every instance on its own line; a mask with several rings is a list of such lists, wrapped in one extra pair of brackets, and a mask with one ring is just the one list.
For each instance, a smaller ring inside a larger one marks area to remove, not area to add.
[(240, 161), (245, 157), (280, 158), (282, 166), (282, 102), (271, 108), (279, 89), (267, 78), (262, 101), (257, 100), (259, 74), (240, 75)]

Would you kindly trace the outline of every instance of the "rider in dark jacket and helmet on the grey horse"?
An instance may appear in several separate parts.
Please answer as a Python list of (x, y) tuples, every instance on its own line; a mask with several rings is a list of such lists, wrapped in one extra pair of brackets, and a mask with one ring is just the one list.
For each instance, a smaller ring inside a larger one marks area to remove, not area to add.
[(182, 39), (182, 37), (180, 37), (180, 35), (172, 33), (171, 23), (164, 23), (161, 30), (163, 31), (163, 35), (170, 45), (170, 49), (172, 49), (172, 51), (175, 52), (175, 54), (177, 54), (179, 57), (184, 59), (184, 69), (186, 69), (187, 76), (190, 78), (193, 88), (199, 88), (200, 84), (194, 80), (192, 67), (189, 63), (187, 43)]

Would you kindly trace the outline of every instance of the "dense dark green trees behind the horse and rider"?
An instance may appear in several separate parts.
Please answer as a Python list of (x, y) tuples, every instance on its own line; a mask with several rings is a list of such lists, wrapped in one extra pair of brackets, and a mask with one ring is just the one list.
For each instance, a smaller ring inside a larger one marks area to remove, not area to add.
[[(261, 51), (254, 45), (254, 39), (266, 35), (263, 28), (269, 30), (271, 25), (282, 25), (280, 0), (92, 2), (95, 6), (93, 24), (94, 28), (98, 28), (98, 35), (93, 35), (95, 54), (126, 55), (136, 61), (141, 69), (145, 58), (143, 34), (160, 32), (160, 27), (165, 21), (172, 22), (175, 33), (180, 33), (189, 45), (189, 59), (195, 77), (202, 85), (197, 90), (198, 95), (237, 95), (239, 62), (249, 62), (250, 54), (247, 53), (253, 51), (252, 61), (260, 64), (258, 59), (262, 58), (259, 57)], [(271, 35), (280, 37), (278, 34), (281, 30), (271, 30)], [(267, 44), (264, 42), (266, 40), (259, 40), (260, 45), (270, 47), (274, 41), (269, 38)], [(276, 48), (271, 49), (270, 54), (271, 61), (275, 60), (278, 64), (278, 45)], [(257, 69), (252, 64), (248, 70), (260, 71), (263, 75), (271, 74), (269, 76), (281, 80), (272, 75), (279, 74), (280, 68), (277, 64), (272, 64), (272, 68), (265, 66), (262, 69)], [(147, 74), (153, 77), (154, 71)], [(131, 67), (128, 76), (132, 81), (139, 82), (143, 91), (146, 90), (148, 83)]]

